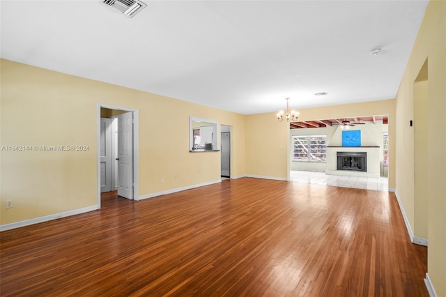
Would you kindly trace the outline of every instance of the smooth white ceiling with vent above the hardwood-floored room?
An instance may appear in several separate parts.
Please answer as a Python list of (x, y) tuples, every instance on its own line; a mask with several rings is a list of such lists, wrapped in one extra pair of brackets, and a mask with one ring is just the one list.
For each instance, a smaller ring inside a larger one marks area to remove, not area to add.
[(2, 0), (1, 58), (240, 114), (385, 100), (428, 3), (144, 2)]

